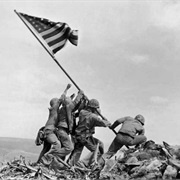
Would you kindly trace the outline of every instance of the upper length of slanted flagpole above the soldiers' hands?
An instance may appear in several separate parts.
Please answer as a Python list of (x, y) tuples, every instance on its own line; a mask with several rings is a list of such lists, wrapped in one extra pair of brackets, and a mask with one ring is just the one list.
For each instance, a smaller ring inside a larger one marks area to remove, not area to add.
[(33, 30), (28, 26), (28, 24), (24, 21), (24, 19), (19, 15), (19, 13), (14, 10), (14, 12), (18, 15), (18, 17), (22, 20), (22, 22), (26, 25), (26, 27), (31, 31), (31, 33), (35, 36), (35, 38), (40, 42), (40, 44), (44, 47), (44, 49), (48, 52), (48, 54), (52, 57), (52, 59), (57, 63), (57, 65), (61, 68), (61, 70), (66, 74), (66, 76), (71, 80), (71, 82), (76, 86), (78, 90), (80, 90), (79, 86), (74, 82), (74, 80), (69, 76), (69, 74), (65, 71), (65, 69), (60, 65), (55, 56), (50, 52), (50, 50), (41, 42), (39, 37), (33, 32)]

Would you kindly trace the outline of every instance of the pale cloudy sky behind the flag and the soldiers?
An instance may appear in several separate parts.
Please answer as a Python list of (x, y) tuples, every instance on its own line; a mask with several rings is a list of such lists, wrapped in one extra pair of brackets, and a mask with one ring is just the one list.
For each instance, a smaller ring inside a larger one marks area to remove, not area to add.
[[(1, 0), (0, 137), (34, 139), (72, 82), (14, 10), (78, 30), (78, 46), (55, 57), (111, 123), (142, 114), (148, 140), (180, 144), (179, 1)], [(77, 92), (72, 84), (68, 95)], [(115, 134), (94, 136), (110, 144)]]

